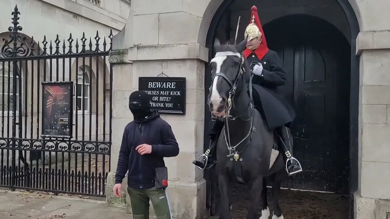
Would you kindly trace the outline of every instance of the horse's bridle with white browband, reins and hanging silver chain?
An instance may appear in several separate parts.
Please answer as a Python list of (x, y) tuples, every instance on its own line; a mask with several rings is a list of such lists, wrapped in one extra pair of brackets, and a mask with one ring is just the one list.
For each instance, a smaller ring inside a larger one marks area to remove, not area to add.
[[(211, 86), (210, 86), (209, 90), (211, 91), (211, 87), (213, 86), (213, 81), (214, 81), (216, 76), (221, 76), (230, 85), (229, 97), (228, 97), (228, 100), (227, 100), (227, 109), (228, 109), (228, 111), (227, 111), (227, 117), (225, 117), (226, 129), (225, 129), (225, 133), (224, 133), (224, 138), (225, 138), (225, 143), (227, 145), (227, 149), (229, 150), (229, 154), (227, 155), (227, 157), (233, 156), (234, 160), (238, 161), (240, 159), (240, 157), (239, 157), (239, 152), (236, 151), (236, 147), (238, 145), (240, 145), (243, 141), (245, 141), (248, 137), (251, 140), (252, 139), (252, 133), (255, 131), (255, 127), (254, 127), (254, 124), (253, 124), (253, 122), (254, 122), (254, 108), (253, 108), (253, 97), (252, 97), (252, 76), (250, 76), (249, 77), (249, 98), (250, 98), (250, 101), (249, 101), (248, 106), (247, 106), (246, 109), (248, 109), (249, 107), (251, 108), (251, 116), (247, 120), (243, 120), (241, 118), (243, 121), (251, 120), (251, 122), (250, 122), (250, 129), (249, 129), (248, 134), (245, 136), (245, 138), (243, 138), (243, 140), (241, 140), (234, 147), (231, 147), (231, 144), (230, 144), (230, 132), (229, 132), (229, 117), (231, 117), (230, 116), (230, 109), (232, 108), (232, 100), (234, 99), (234, 95), (236, 94), (236, 91), (237, 91), (237, 85), (238, 85), (238, 83), (239, 83), (239, 81), (241, 79), (242, 80), (245, 79), (245, 74), (244, 74), (245, 73), (245, 68), (243, 66), (245, 59), (244, 59), (244, 56), (242, 54), (235, 53), (235, 52), (232, 52), (232, 51), (218, 52), (218, 53), (215, 54), (215, 57), (232, 56), (232, 55), (240, 58), (240, 64), (239, 64), (239, 69), (238, 69), (238, 74), (236, 76), (236, 79), (234, 80), (234, 82), (232, 82), (232, 81), (230, 81), (229, 78), (227, 78), (227, 76), (223, 72), (218, 72), (218, 73), (215, 74), (215, 76), (211, 80)], [(243, 113), (246, 113), (246, 110)], [(242, 115), (238, 115), (237, 117), (231, 117), (231, 119), (235, 120), (235, 118), (239, 118), (241, 116)], [(249, 141), (246, 143), (246, 145), (248, 145)], [(241, 151), (246, 147), (246, 145), (241, 149)]]

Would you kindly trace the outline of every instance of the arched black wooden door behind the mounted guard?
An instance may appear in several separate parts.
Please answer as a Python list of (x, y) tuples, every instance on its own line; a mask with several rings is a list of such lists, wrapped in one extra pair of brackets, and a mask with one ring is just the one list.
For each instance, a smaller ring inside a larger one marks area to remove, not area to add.
[(264, 26), (287, 71), (285, 95), (296, 110), (291, 132), (303, 172), (283, 187), (347, 193), (350, 47), (326, 21), (289, 16)]

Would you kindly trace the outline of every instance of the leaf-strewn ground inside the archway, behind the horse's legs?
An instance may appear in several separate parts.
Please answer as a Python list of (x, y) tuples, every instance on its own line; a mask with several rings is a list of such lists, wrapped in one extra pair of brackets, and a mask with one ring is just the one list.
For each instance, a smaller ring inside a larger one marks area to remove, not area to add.
[[(250, 203), (249, 191), (245, 185), (237, 185), (233, 194), (232, 217), (243, 219)], [(279, 203), (285, 219), (348, 218), (346, 195), (281, 189)], [(271, 189), (268, 189), (268, 205), (272, 215)]]

